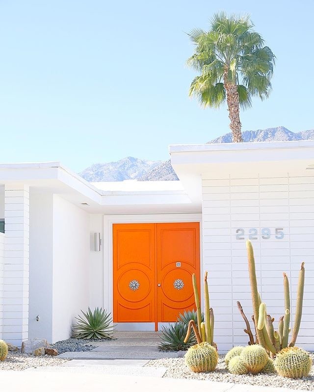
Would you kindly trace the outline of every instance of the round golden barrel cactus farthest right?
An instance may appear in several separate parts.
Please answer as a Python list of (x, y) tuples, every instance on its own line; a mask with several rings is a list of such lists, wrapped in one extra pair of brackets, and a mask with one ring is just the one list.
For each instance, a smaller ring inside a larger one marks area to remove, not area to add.
[(277, 373), (283, 377), (301, 378), (309, 375), (312, 359), (302, 348), (287, 347), (277, 354), (274, 366)]

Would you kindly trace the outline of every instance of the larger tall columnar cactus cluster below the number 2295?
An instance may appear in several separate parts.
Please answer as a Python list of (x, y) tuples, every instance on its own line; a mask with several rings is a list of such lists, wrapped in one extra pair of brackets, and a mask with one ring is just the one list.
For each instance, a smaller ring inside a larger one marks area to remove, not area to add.
[[(281, 349), (288, 347), (289, 339), (289, 325), (290, 325), (290, 289), (288, 276), (284, 273), (284, 294), (285, 294), (285, 314), (279, 319), (278, 332), (274, 331), (273, 321), (266, 312), (266, 305), (262, 302), (260, 294), (258, 292), (257, 278), (255, 271), (255, 260), (253, 247), (250, 241), (246, 242), (247, 254), (248, 254), (248, 267), (249, 276), (251, 283), (251, 294), (252, 294), (252, 305), (253, 313), (252, 319), (255, 323), (256, 329), (256, 343), (261, 344), (265, 347), (272, 355), (278, 353)], [(301, 265), (299, 272), (298, 281), (298, 292), (296, 300), (296, 314), (294, 320), (294, 327), (292, 332), (292, 338), (289, 346), (294, 346), (297, 335), (300, 329), (301, 317), (302, 317), (302, 305), (303, 305), (303, 293), (304, 293), (304, 263)], [(241, 311), (242, 309), (240, 309)], [(244, 330), (247, 332), (247, 329)]]

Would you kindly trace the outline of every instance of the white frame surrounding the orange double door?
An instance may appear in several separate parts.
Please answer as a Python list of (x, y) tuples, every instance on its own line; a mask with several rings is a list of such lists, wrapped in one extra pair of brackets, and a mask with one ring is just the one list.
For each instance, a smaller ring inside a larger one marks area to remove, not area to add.
[[(112, 249), (112, 224), (113, 223), (200, 223), (200, 275), (201, 275), (201, 301), (203, 298), (203, 229), (202, 213), (192, 214), (132, 214), (132, 215), (104, 215), (104, 308), (113, 312), (113, 249)], [(202, 302), (201, 302), (202, 303)], [(135, 331), (137, 323), (134, 323)], [(150, 327), (147, 326), (147, 330)], [(154, 328), (155, 330), (155, 328)]]

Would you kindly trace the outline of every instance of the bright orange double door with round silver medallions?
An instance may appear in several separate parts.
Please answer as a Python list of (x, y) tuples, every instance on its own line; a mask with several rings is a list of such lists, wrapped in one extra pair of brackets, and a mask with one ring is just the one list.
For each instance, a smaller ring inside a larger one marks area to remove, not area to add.
[[(199, 222), (113, 224), (113, 321), (176, 321), (200, 280)], [(154, 325), (154, 324), (152, 324)]]

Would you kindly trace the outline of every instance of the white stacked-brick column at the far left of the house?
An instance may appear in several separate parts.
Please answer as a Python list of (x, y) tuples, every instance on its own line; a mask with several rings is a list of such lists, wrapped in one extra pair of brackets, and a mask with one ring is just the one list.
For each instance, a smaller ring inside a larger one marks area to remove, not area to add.
[(5, 185), (3, 339), (21, 345), (28, 337), (29, 189)]

